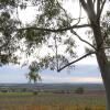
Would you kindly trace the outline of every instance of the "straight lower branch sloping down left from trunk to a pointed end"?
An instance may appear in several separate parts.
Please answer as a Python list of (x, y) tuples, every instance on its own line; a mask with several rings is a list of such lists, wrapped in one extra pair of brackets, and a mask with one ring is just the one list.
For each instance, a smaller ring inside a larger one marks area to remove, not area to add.
[(86, 58), (87, 56), (89, 56), (89, 55), (91, 55), (91, 54), (95, 54), (95, 52), (90, 52), (90, 53), (88, 53), (88, 54), (82, 55), (81, 57), (75, 59), (74, 62), (70, 62), (70, 63), (68, 63), (67, 65), (63, 66), (62, 68), (57, 69), (57, 72), (63, 70), (64, 68), (68, 67), (69, 65), (73, 65), (73, 64), (79, 62), (80, 59)]

